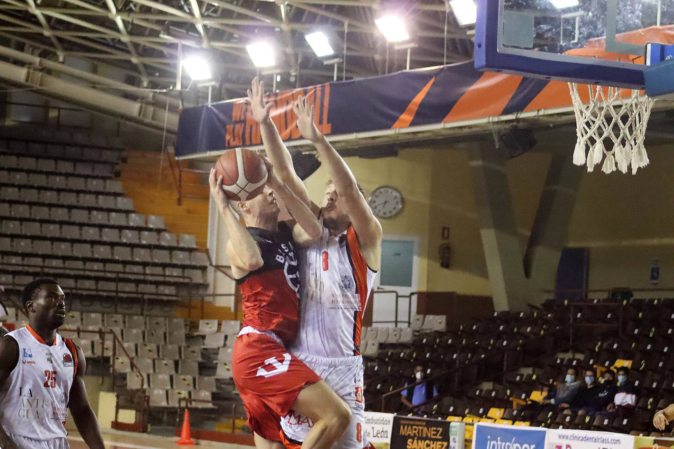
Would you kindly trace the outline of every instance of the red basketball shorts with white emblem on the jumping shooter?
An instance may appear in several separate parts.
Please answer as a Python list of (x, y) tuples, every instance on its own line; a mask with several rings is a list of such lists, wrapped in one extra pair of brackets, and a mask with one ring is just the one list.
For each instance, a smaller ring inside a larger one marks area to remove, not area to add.
[(248, 415), (247, 424), (266, 440), (280, 441), (280, 418), (297, 395), (321, 380), (269, 335), (239, 335), (232, 351), (232, 376)]

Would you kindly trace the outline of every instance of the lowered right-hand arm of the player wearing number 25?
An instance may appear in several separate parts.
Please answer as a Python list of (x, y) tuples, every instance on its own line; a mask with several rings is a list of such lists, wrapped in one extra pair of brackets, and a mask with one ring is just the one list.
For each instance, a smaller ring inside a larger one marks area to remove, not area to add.
[[(75, 426), (78, 427), (80, 436), (90, 449), (105, 449), (103, 438), (100, 436), (98, 421), (96, 415), (89, 405), (84, 386), (84, 374), (86, 372), (86, 359), (80, 347), (76, 347), (78, 357), (78, 368), (75, 373), (75, 380), (70, 387), (70, 397), (68, 408), (73, 415)], [(3, 448), (5, 446), (2, 446)]]

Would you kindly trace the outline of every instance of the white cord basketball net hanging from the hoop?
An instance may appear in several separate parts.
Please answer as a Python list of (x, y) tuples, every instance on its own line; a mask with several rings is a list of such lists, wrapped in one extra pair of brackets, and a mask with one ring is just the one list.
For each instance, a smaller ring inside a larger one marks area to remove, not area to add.
[[(644, 137), (650, 108), (653, 106), (652, 98), (640, 96), (638, 90), (632, 90), (632, 96), (623, 98), (620, 88), (608, 88), (605, 96), (601, 86), (588, 85), (590, 102), (583, 104), (578, 94), (578, 84), (569, 83), (569, 89), (576, 112), (578, 135), (574, 164), (585, 164), (588, 172), (592, 172), (594, 166), (603, 159), (601, 171), (611, 173), (617, 166), (618, 170), (627, 173), (631, 165), (632, 174), (648, 165)], [(605, 139), (613, 141), (611, 149), (604, 145)]]

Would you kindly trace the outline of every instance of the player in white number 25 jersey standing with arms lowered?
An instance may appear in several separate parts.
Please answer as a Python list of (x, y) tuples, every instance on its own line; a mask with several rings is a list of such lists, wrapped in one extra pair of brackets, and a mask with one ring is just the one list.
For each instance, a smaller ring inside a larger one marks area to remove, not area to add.
[(22, 293), (28, 326), (0, 338), (0, 448), (67, 449), (73, 414), (90, 449), (105, 449), (84, 388), (82, 349), (56, 330), (65, 295), (53, 279), (35, 279)]

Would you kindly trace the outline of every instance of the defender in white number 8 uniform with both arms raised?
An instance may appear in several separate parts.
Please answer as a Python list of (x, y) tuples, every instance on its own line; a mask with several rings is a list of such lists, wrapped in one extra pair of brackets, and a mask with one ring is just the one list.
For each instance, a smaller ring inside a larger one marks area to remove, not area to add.
[[(300, 253), (303, 281), (300, 330), (291, 351), (351, 407), (353, 419), (335, 444), (339, 449), (368, 447), (363, 429), (363, 359), (361, 326), (367, 297), (379, 269), (381, 225), (367, 205), (353, 173), (314, 123), (313, 106), (306, 98), (293, 105), (297, 127), (318, 150), (330, 170), (331, 181), (321, 207), (309, 199), (293, 168), (288, 149), (264, 104), (264, 85), (253, 79), (248, 92), (251, 110), (260, 124), (265, 149), (274, 172), (319, 217), (323, 234)], [(290, 413), (282, 420), (286, 447), (299, 447), (311, 421)]]

